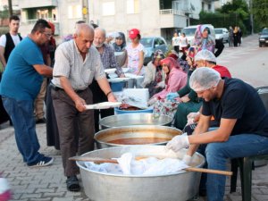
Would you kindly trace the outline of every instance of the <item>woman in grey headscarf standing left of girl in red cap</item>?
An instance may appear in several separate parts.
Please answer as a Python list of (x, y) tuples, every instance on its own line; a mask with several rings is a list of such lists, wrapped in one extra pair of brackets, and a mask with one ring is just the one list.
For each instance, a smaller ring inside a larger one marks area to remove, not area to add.
[(114, 55), (121, 68), (127, 67), (126, 38), (122, 32), (118, 32), (113, 43)]

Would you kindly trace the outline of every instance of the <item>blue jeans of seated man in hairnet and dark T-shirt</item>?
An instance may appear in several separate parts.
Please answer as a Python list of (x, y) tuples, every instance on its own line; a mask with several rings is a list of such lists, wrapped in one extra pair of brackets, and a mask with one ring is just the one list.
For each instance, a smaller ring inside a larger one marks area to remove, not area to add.
[[(256, 134), (239, 134), (230, 136), (226, 142), (209, 143), (206, 146), (202, 145), (198, 149), (198, 152), (205, 154), (208, 169), (226, 171), (228, 158), (267, 155), (268, 138)], [(204, 181), (201, 180), (200, 186), (202, 186), (202, 182)], [(226, 176), (220, 174), (206, 175), (208, 201), (223, 201), (225, 181)]]

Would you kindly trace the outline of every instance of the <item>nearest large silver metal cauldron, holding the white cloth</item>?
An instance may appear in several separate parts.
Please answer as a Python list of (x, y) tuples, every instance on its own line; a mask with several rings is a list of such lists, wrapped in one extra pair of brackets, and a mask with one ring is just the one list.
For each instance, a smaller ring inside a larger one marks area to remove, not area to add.
[[(167, 152), (164, 146), (125, 146), (98, 149), (85, 156), (113, 158), (126, 152), (135, 155), (179, 157), (185, 154)], [(202, 167), (205, 159), (195, 154), (191, 166)], [(77, 162), (86, 195), (93, 201), (186, 201), (198, 192), (200, 172), (177, 172), (164, 175), (118, 175), (95, 172)]]

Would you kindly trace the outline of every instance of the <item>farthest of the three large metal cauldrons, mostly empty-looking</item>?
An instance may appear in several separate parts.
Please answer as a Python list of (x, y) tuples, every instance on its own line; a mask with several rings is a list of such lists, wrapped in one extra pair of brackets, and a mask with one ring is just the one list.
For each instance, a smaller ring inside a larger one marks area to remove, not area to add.
[(153, 113), (126, 113), (120, 115), (107, 116), (99, 121), (103, 130), (121, 127), (121, 126), (137, 126), (137, 125), (160, 125), (170, 126), (172, 117), (168, 115), (157, 115)]

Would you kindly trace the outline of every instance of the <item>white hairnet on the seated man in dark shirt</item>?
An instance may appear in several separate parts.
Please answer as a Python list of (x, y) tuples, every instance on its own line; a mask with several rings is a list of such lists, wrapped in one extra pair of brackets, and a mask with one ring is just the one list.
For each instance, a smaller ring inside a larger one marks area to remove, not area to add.
[(198, 92), (217, 86), (220, 80), (221, 75), (218, 71), (207, 67), (200, 67), (191, 74), (189, 86)]

